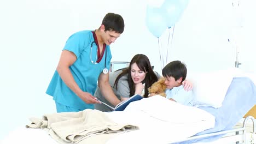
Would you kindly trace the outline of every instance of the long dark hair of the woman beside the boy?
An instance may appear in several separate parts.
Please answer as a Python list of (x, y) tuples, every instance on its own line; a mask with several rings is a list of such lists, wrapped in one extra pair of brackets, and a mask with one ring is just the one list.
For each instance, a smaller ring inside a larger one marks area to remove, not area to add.
[(135, 83), (133, 82), (132, 77), (131, 77), (131, 65), (133, 63), (136, 63), (138, 65), (138, 68), (140, 70), (144, 71), (144, 73), (146, 73), (145, 79), (142, 82), (145, 83), (144, 98), (147, 98), (148, 94), (149, 94), (148, 88), (150, 86), (152, 86), (154, 82), (158, 81), (158, 77), (154, 73), (154, 71), (151, 67), (151, 64), (149, 62), (149, 59), (146, 55), (143, 55), (143, 54), (135, 55), (132, 58), (129, 67), (124, 68), (122, 73), (118, 75), (117, 79), (115, 80), (114, 86), (117, 88), (119, 79), (122, 76), (127, 75), (127, 81), (128, 81), (129, 89), (130, 89), (130, 97), (135, 94)]

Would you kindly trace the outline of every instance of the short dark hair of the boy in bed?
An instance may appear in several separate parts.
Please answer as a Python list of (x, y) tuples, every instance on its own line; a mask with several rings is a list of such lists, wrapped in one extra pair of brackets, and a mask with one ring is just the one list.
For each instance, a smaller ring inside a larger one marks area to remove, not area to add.
[(187, 68), (181, 61), (172, 61), (162, 69), (162, 76), (174, 77), (175, 81), (182, 77), (182, 82), (186, 79)]

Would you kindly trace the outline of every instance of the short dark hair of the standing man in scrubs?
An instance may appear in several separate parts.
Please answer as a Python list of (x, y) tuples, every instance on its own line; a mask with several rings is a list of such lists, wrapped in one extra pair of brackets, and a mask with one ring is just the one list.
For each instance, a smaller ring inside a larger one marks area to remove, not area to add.
[(101, 24), (105, 26), (105, 31), (124, 32), (124, 19), (119, 14), (108, 13)]

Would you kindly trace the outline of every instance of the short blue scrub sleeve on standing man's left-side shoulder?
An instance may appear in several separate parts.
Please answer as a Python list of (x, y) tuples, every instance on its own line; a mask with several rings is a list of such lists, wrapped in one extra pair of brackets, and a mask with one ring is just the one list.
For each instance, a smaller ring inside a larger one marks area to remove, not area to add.
[(71, 35), (71, 37), (68, 38), (66, 41), (65, 47), (63, 50), (71, 51), (77, 56), (77, 58), (80, 56), (80, 53), (83, 52), (85, 47), (89, 45), (89, 34), (88, 33), (74, 33)]

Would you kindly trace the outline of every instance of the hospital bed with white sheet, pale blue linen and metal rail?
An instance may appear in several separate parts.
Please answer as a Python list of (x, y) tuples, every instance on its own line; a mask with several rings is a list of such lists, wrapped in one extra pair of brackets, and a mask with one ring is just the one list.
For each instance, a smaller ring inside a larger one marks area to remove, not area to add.
[[(157, 95), (130, 103), (125, 111), (106, 112), (115, 122), (126, 121), (140, 129), (115, 135), (104, 143), (253, 143), (253, 117), (245, 118), (242, 127), (234, 127), (254, 104), (256, 88), (248, 77), (232, 79), (222, 106), (217, 109), (184, 106)], [(247, 133), (248, 123), (253, 125), (252, 133)], [(22, 127), (12, 131), (2, 143), (57, 142), (42, 129)]]

